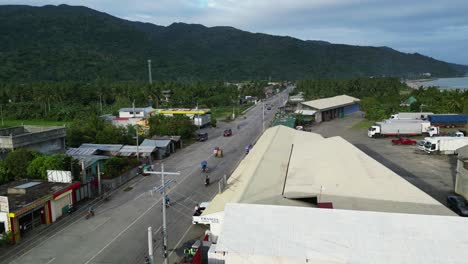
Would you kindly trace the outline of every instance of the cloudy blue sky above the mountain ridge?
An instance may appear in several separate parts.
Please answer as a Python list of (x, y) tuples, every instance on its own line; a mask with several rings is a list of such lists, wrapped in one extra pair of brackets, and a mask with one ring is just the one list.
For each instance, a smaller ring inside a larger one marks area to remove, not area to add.
[(389, 46), (468, 65), (468, 0), (0, 0), (61, 3), (164, 26), (233, 26), (304, 40)]

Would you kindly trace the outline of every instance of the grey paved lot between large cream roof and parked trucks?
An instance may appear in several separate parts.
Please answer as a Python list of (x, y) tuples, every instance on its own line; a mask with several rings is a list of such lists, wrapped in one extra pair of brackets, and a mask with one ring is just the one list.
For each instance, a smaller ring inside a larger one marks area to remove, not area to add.
[[(373, 139), (367, 128), (355, 128), (363, 121), (361, 113), (312, 126), (311, 131), (324, 137), (341, 136), (384, 164), (413, 185), (442, 204), (453, 194), (456, 174), (456, 157), (453, 155), (428, 155), (415, 146), (392, 145), (394, 137)], [(398, 192), (398, 190), (395, 190)]]

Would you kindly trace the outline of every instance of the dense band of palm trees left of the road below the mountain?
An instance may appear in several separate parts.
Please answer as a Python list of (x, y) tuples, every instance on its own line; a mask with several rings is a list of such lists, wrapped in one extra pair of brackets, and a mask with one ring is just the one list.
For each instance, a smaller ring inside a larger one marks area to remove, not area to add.
[(245, 82), (239, 88), (219, 81), (0, 83), (0, 105), (5, 119), (73, 121), (117, 114), (133, 102), (155, 108), (234, 106), (245, 95), (263, 98), (266, 86)]

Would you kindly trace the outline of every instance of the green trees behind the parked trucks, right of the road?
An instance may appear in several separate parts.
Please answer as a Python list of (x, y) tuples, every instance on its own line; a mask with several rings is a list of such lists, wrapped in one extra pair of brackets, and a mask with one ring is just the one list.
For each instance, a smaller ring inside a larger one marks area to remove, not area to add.
[[(396, 112), (468, 113), (468, 90), (441, 90), (437, 87), (412, 89), (398, 78), (354, 78), (304, 80), (295, 93), (306, 100), (347, 94), (361, 100), (360, 108), (370, 120), (382, 120)], [(409, 97), (416, 102), (402, 104)]]

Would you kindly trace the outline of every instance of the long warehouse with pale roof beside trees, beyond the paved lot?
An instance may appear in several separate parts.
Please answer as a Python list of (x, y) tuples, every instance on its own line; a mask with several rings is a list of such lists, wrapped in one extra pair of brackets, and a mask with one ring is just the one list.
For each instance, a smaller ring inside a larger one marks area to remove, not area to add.
[(313, 110), (315, 122), (330, 121), (335, 118), (342, 118), (359, 111), (359, 99), (338, 95), (329, 98), (317, 99), (298, 104), (297, 110)]

